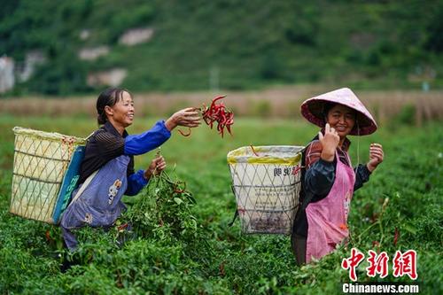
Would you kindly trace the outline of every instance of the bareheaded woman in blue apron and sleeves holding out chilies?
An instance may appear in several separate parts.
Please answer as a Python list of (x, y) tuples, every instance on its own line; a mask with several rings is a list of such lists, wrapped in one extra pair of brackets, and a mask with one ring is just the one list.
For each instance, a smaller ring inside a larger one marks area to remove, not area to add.
[(152, 151), (165, 143), (177, 126), (194, 128), (200, 124), (198, 112), (186, 108), (166, 121), (159, 120), (150, 130), (128, 135), (126, 128), (134, 120), (132, 95), (126, 89), (106, 89), (97, 98), (98, 128), (86, 144), (79, 183), (73, 201), (66, 208), (61, 229), (66, 246), (74, 250), (77, 241), (72, 229), (82, 226), (108, 228), (126, 209), (123, 194), (136, 195), (154, 174), (165, 169), (159, 156), (145, 170), (134, 170), (134, 155)]

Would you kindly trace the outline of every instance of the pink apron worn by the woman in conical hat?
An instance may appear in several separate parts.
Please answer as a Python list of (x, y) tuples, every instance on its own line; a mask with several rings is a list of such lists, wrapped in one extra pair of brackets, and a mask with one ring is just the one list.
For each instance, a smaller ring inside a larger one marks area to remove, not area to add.
[[(349, 165), (351, 159), (346, 153)], [(322, 200), (307, 206), (307, 252), (306, 262), (312, 257), (320, 259), (334, 251), (349, 236), (347, 215), (354, 193), (355, 174), (352, 167), (338, 159), (335, 181), (330, 193)]]

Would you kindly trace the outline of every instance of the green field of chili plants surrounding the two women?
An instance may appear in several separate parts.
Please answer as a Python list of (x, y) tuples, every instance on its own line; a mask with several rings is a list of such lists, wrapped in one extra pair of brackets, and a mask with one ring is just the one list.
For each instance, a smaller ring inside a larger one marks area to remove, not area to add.
[[(128, 132), (142, 132), (154, 122), (138, 117)], [(384, 278), (369, 277), (368, 262), (361, 262), (357, 283), (418, 283), (421, 293), (443, 293), (441, 122), (417, 128), (391, 120), (374, 135), (351, 136), (354, 164), (368, 160), (372, 142), (383, 144), (385, 161), (354, 194), (349, 244), (301, 268), (291, 253), (290, 237), (242, 235), (238, 220), (229, 227), (236, 202), (226, 155), (250, 144), (304, 145), (318, 131), (307, 121), (236, 118), (233, 136), (224, 138), (206, 125), (188, 137), (175, 130), (161, 153), (167, 159), (167, 175), (185, 182), (181, 188), (186, 194), (175, 197), (178, 201), (159, 196), (171, 193), (163, 182), (159, 190), (125, 197), (130, 214), (119, 222), (141, 222), (139, 234), (125, 236), (123, 243), (117, 228), (82, 229), (74, 254), (61, 246), (57, 227), (9, 213), (14, 126), (83, 137), (97, 127), (86, 116), (0, 117), (0, 293), (339, 294), (342, 283), (350, 282), (341, 262), (353, 247), (367, 256), (374, 250), (390, 258)], [(147, 167), (155, 152), (137, 156), (136, 168)], [(150, 200), (137, 206), (155, 194), (161, 206)], [(392, 259), (398, 250), (416, 251), (416, 281), (393, 276)], [(73, 261), (73, 266), (62, 271), (64, 260)]]

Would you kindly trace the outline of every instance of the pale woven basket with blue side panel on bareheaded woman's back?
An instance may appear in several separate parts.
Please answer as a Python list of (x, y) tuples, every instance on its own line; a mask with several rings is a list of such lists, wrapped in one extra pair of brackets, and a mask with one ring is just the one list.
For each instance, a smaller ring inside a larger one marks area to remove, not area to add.
[(12, 131), (10, 212), (56, 224), (78, 180), (85, 139), (20, 127)]

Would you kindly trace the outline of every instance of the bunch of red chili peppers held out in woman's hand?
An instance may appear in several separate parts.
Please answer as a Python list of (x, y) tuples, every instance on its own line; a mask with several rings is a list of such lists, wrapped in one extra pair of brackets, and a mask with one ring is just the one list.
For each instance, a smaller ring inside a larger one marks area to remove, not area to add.
[(202, 111), (203, 120), (206, 124), (211, 127), (214, 126), (214, 122), (217, 122), (217, 131), (223, 137), (224, 128), (226, 128), (229, 134), (232, 136), (230, 127), (234, 124), (234, 113), (226, 109), (226, 106), (221, 102), (220, 104), (215, 104), (217, 100), (224, 98), (226, 96), (215, 97), (213, 102), (209, 106), (204, 106)]

